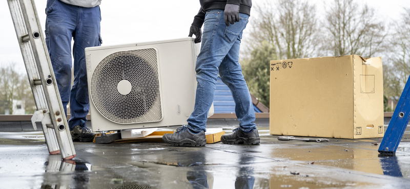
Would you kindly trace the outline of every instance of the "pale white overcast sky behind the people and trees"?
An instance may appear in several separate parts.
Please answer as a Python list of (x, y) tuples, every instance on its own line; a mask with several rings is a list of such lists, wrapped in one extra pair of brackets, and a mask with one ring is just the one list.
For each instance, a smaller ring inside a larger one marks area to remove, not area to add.
[[(265, 1), (253, 0), (252, 2), (257, 5)], [(44, 33), (47, 1), (35, 0), (34, 2)], [(331, 1), (311, 0), (310, 2), (316, 4), (317, 12), (322, 14), (323, 2)], [(403, 12), (402, 7), (410, 7), (408, 0), (358, 0), (356, 2), (367, 3), (374, 7), (387, 21), (399, 19)], [(104, 1), (100, 5), (103, 45), (187, 37), (199, 7), (197, 0)], [(253, 18), (252, 14), (251, 11), (250, 21)], [(20, 70), (25, 71), (7, 1), (0, 1), (0, 26), (0, 66), (12, 62)], [(247, 30), (244, 31), (244, 36), (246, 35)]]

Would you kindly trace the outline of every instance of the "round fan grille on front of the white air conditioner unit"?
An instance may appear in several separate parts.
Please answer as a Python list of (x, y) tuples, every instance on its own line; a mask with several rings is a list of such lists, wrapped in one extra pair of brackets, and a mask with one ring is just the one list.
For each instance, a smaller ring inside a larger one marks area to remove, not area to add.
[(119, 124), (161, 120), (155, 49), (107, 56), (95, 68), (90, 83), (92, 101), (108, 120)]

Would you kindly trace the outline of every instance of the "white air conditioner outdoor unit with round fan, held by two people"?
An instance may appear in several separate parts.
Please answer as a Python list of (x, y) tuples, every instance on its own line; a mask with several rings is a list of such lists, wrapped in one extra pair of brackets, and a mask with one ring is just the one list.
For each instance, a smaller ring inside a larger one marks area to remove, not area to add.
[(93, 131), (187, 124), (197, 84), (193, 38), (85, 51)]

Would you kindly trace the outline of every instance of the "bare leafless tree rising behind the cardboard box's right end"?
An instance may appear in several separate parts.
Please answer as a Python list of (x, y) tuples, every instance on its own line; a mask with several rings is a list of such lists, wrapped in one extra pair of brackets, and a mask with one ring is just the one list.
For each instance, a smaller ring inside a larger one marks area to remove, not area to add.
[(360, 8), (353, 0), (334, 0), (325, 15), (327, 50), (334, 56), (372, 57), (387, 49), (383, 43), (387, 36), (385, 24), (378, 20), (373, 8)]

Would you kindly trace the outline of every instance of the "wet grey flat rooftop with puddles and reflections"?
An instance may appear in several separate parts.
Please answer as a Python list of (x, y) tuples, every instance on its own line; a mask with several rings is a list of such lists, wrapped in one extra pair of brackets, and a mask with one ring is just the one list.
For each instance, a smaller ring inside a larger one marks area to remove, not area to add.
[(258, 129), (254, 146), (74, 143), (65, 161), (41, 131), (0, 132), (0, 188), (410, 188), (410, 129), (394, 157), (378, 156), (382, 138), (280, 141)]

